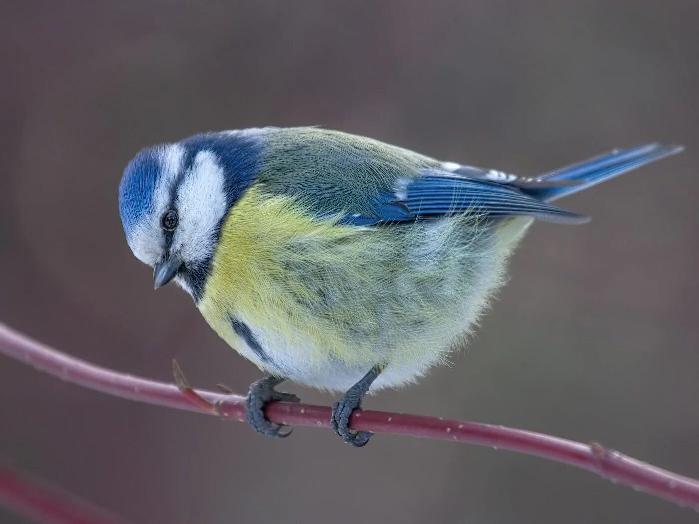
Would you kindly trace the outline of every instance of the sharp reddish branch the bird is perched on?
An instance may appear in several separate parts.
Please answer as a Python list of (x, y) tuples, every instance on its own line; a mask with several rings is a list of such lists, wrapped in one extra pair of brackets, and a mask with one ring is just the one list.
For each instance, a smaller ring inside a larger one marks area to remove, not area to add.
[[(245, 419), (244, 398), (238, 395), (195, 391), (187, 386), (184, 377), (181, 374), (178, 376), (177, 372), (175, 376), (182, 391), (174, 384), (107, 370), (62, 354), (1, 323), (0, 353), (73, 384), (110, 395), (192, 412), (218, 414), (224, 419)], [(203, 402), (202, 399), (208, 402)], [(212, 409), (212, 405), (217, 409)], [(328, 428), (330, 425), (329, 407), (271, 402), (265, 409), (265, 415), (269, 420), (283, 424), (316, 428)], [(661, 470), (596, 443), (582, 444), (502, 425), (370, 410), (354, 412), (350, 426), (354, 430), (469, 442), (528, 453), (580, 467), (605, 479), (628, 484), (656, 497), (699, 510), (699, 481)]]

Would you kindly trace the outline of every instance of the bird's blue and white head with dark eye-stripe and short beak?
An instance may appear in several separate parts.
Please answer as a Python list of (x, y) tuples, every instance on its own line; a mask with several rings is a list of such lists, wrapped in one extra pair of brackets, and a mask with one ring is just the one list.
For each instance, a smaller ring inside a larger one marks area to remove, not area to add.
[(155, 289), (174, 279), (201, 298), (222, 221), (257, 176), (260, 142), (245, 131), (204, 133), (129, 162), (120, 215), (131, 251), (154, 269)]

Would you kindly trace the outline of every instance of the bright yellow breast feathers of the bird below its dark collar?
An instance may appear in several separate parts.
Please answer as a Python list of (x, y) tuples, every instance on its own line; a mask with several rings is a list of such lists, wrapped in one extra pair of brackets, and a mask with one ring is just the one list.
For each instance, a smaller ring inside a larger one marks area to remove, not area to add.
[[(359, 228), (312, 217), (293, 198), (263, 197), (252, 187), (224, 219), (198, 305), (201, 314), (238, 351), (243, 341), (231, 327), (234, 317), (273, 330), (289, 345), (303, 340), (303, 344), (296, 344), (308, 351), (301, 358), (327, 358), (331, 354), (351, 361), (347, 340), (333, 330), (332, 322), (313, 318), (303, 307), (317, 296), (284, 261), (305, 256), (298, 252), (299, 240), (328, 242), (359, 232)], [(316, 348), (322, 348), (324, 355)], [(246, 356), (264, 368), (263, 362)]]

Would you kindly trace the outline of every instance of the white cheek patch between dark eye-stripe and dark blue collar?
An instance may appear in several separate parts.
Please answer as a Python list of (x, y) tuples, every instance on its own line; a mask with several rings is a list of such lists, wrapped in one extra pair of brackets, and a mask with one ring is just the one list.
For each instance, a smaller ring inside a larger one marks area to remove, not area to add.
[(173, 238), (173, 252), (196, 263), (213, 253), (214, 233), (226, 214), (228, 205), (223, 168), (210, 151), (201, 151), (194, 158), (192, 170), (178, 188), (180, 224)]

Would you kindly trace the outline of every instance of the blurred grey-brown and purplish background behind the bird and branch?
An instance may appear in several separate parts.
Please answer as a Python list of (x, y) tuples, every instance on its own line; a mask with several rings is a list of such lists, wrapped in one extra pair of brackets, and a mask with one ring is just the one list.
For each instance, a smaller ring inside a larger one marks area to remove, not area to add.
[[(512, 425), (699, 475), (699, 3), (3, 3), (0, 320), (74, 356), (247, 391), (260, 372), (124, 240), (122, 168), (198, 131), (324, 124), (533, 175), (612, 147), (684, 154), (538, 223), (452, 368), (365, 406)], [(306, 402), (332, 395), (285, 385)], [(696, 522), (538, 458), (140, 405), (0, 358), (0, 455), (136, 523)], [(2, 523), (26, 521), (0, 509)]]

